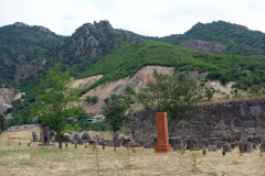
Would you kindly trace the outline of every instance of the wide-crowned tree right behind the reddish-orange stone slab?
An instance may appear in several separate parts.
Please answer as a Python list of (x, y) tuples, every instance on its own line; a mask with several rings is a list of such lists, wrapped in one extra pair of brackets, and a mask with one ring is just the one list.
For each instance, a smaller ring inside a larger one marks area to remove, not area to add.
[(195, 107), (201, 96), (195, 94), (194, 79), (176, 72), (172, 75), (158, 74), (156, 69), (153, 77), (156, 81), (149, 81), (137, 98), (153, 117), (156, 112), (167, 112), (170, 136), (179, 121), (202, 119)]

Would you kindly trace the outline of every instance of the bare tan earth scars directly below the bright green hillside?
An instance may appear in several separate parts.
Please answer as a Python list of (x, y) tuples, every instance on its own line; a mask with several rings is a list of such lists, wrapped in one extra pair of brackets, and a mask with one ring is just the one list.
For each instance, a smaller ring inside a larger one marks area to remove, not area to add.
[[(152, 76), (153, 69), (157, 69), (158, 73), (161, 74), (171, 74), (173, 72), (173, 67), (163, 67), (163, 66), (146, 66), (139, 69), (132, 77), (126, 77), (124, 79), (119, 79), (117, 81), (110, 81), (105, 85), (99, 85), (96, 88), (89, 90), (85, 95), (81, 97), (81, 105), (84, 107), (87, 113), (97, 113), (105, 107), (104, 99), (110, 97), (110, 95), (124, 95), (127, 86), (130, 86), (136, 92), (139, 92), (148, 81), (155, 80)], [(208, 73), (199, 74), (199, 72), (191, 72), (190, 77), (195, 79), (204, 79)], [(103, 75), (92, 76), (87, 78), (82, 78), (77, 80), (72, 80), (70, 87), (84, 89), (89, 87), (93, 82), (102, 78)], [(82, 84), (80, 86), (80, 84)], [(225, 86), (222, 86), (218, 80), (208, 81), (205, 84), (206, 87), (213, 87), (215, 90), (220, 90), (219, 94), (215, 94), (214, 97), (222, 97), (222, 94), (225, 95), (231, 94), (231, 87), (234, 82), (229, 82)], [(203, 90), (201, 91), (203, 94)], [(97, 96), (97, 103), (86, 103), (84, 102), (87, 96)]]

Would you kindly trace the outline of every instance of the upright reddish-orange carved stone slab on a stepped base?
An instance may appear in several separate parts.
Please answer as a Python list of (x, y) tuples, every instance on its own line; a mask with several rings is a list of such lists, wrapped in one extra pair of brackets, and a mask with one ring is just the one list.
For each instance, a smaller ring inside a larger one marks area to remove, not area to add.
[(157, 142), (158, 145), (155, 146), (156, 153), (172, 152), (172, 147), (168, 140), (168, 118), (167, 112), (156, 113), (157, 122)]

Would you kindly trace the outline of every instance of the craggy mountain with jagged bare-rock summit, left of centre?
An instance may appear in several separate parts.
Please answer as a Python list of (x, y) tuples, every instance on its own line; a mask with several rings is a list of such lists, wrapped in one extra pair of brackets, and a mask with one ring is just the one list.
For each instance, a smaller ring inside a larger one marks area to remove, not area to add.
[(57, 62), (62, 63), (62, 70), (76, 77), (113, 50), (135, 41), (127, 32), (115, 31), (108, 21), (85, 23), (43, 56), (23, 65), (18, 70), (17, 82), (22, 79), (25, 86), (38, 80)]

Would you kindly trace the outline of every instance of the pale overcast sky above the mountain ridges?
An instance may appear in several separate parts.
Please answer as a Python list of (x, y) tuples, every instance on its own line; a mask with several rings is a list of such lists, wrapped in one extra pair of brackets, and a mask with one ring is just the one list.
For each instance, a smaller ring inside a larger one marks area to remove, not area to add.
[(61, 35), (100, 20), (147, 36), (182, 34), (219, 20), (265, 33), (264, 18), (265, 0), (0, 0), (0, 26), (23, 22)]

